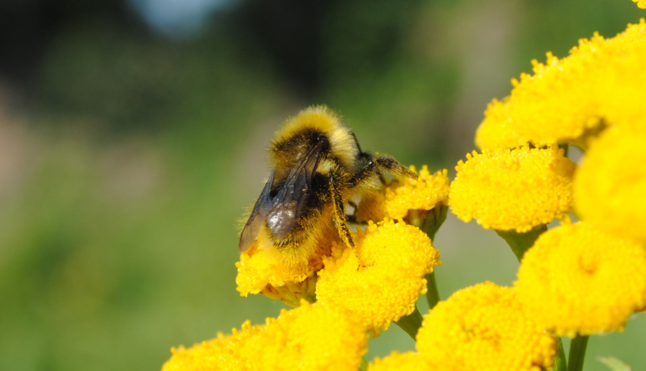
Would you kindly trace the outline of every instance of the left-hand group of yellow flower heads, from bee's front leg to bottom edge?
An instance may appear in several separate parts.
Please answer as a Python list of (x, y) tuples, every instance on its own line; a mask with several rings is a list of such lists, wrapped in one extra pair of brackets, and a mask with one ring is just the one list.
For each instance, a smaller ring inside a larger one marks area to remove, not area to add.
[[(448, 192), (446, 170), (430, 174), (423, 167), (417, 179), (395, 179), (376, 191), (381, 206), (369, 197), (373, 201), (357, 210), (386, 211), (382, 219), (367, 220), (365, 229), (353, 233), (355, 249), (338, 236), (326, 240), (322, 251), (329, 254), (317, 257), (320, 263), (285, 265), (252, 246), (236, 263), (240, 294), (262, 293), (296, 308), (263, 326), (245, 322), (229, 336), (172, 349), (163, 370), (357, 370), (369, 333), (378, 336), (392, 322), (419, 313), (415, 304), (426, 293), (426, 276), (441, 264), (440, 252), (406, 219), (409, 211), (447, 208)], [(401, 211), (401, 198), (408, 211)], [(391, 204), (400, 213), (397, 220), (388, 211)]]

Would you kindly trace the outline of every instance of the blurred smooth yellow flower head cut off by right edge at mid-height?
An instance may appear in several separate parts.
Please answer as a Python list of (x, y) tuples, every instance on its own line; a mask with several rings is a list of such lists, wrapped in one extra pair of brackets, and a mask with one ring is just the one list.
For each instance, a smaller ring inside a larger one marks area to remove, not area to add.
[(610, 128), (592, 142), (574, 176), (574, 190), (583, 220), (646, 242), (646, 121), (642, 123), (642, 131)]

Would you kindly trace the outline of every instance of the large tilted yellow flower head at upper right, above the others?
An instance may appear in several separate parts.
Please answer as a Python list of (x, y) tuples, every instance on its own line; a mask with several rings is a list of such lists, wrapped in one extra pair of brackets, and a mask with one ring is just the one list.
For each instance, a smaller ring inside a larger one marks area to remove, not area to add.
[(579, 40), (566, 58), (547, 53), (545, 64), (533, 60), (533, 75), (513, 79), (511, 95), (489, 104), (477, 146), (580, 144), (587, 132), (641, 109), (645, 59), (646, 23), (641, 19), (615, 38), (595, 33), (590, 40)]

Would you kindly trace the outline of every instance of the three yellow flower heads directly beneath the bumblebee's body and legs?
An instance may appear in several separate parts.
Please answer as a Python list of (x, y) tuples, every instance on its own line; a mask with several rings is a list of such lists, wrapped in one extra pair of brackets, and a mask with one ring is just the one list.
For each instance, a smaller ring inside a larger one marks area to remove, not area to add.
[[(429, 174), (424, 167), (417, 179), (407, 181), (403, 186), (401, 183), (404, 181), (393, 181), (387, 188), (388, 192), (395, 188), (399, 190), (397, 197), (389, 195), (390, 202), (397, 202), (398, 197), (416, 197), (424, 199), (426, 203), (412, 202), (412, 208), (424, 210), (431, 210), (436, 205), (442, 207), (447, 203), (449, 179), (446, 172)], [(387, 190), (379, 190), (375, 195), (386, 195)], [(364, 207), (362, 202), (357, 213), (374, 213), (377, 208), (386, 210), (385, 204), (386, 202), (382, 202), (381, 206), (375, 206), (371, 201)], [(372, 211), (366, 213), (364, 209)], [(390, 322), (413, 312), (417, 298), (426, 290), (424, 275), (433, 272), (433, 267), (440, 264), (440, 253), (431, 245), (430, 238), (416, 226), (402, 220), (403, 216), (399, 216), (401, 222), (397, 223), (388, 214), (380, 214), (379, 219), (367, 220), (367, 229), (358, 229), (354, 233), (356, 250), (350, 249), (339, 239), (332, 240), (322, 249), (329, 253), (320, 256), (320, 264), (310, 263), (296, 267), (285, 265), (270, 258), (265, 251), (251, 247), (240, 255), (240, 262), (236, 263), (238, 291), (242, 296), (263, 293), (281, 299), (290, 306), (299, 305), (300, 299), (308, 299), (310, 302), (340, 302), (342, 306), (363, 310), (368, 315), (372, 311), (382, 310), (374, 303), (374, 290), (392, 290), (395, 297), (390, 298), (392, 301), (389, 304), (400, 305), (401, 310), (391, 311), (390, 315), (365, 318), (366, 323), (374, 324), (369, 329), (387, 329)], [(336, 229), (331, 234), (336, 234)], [(353, 288), (358, 282), (363, 289)], [(394, 287), (393, 284), (400, 287)], [(340, 288), (343, 287), (351, 290), (351, 295), (345, 295), (341, 299), (338, 295), (342, 294)], [(364, 296), (363, 299), (360, 299), (361, 295)], [(380, 296), (379, 299), (388, 298)], [(350, 304), (348, 300), (355, 303)], [(362, 300), (365, 302), (362, 303)]]

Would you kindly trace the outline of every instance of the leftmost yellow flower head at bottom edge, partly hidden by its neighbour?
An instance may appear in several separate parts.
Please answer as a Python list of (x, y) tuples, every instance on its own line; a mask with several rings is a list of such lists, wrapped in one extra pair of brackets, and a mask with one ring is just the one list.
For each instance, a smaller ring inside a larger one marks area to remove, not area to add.
[(247, 321), (240, 331), (233, 329), (229, 336), (217, 333), (217, 338), (188, 349), (173, 347), (173, 355), (164, 363), (162, 371), (253, 370), (242, 349), (249, 338), (258, 336), (262, 329), (262, 326), (251, 326)]

